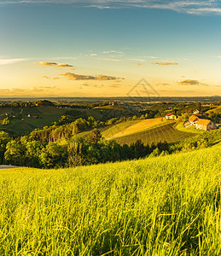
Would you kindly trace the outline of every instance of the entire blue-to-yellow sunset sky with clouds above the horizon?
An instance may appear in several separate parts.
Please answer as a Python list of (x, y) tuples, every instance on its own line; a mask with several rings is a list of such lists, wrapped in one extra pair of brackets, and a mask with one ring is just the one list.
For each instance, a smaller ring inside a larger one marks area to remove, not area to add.
[(219, 0), (0, 0), (0, 97), (221, 96), (220, 71)]

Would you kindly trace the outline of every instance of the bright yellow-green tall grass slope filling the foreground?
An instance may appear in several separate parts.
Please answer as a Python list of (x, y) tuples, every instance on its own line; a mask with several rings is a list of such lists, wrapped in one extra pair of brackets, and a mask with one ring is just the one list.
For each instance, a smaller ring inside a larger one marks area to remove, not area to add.
[(1, 170), (0, 254), (220, 255), (220, 149)]

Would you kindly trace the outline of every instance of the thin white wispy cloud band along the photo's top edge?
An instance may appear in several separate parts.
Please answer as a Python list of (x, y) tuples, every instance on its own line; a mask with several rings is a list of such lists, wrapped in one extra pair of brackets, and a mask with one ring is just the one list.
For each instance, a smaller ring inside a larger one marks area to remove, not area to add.
[(221, 15), (219, 0), (4, 0), (0, 4), (59, 3), (98, 9), (172, 9), (192, 15)]

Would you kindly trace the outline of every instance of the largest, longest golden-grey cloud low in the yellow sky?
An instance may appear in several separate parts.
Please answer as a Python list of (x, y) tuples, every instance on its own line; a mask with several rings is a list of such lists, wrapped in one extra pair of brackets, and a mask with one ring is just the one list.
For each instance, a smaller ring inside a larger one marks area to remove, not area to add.
[(98, 75), (98, 76), (90, 76), (90, 75), (79, 75), (76, 73), (61, 73), (61, 76), (66, 77), (69, 80), (98, 80), (98, 81), (108, 81), (108, 80), (116, 80), (120, 78), (106, 76), (106, 75)]

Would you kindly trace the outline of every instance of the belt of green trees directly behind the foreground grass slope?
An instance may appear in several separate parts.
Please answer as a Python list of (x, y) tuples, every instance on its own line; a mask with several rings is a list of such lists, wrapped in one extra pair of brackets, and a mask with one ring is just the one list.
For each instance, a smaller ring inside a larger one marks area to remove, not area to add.
[(59, 168), (87, 166), (98, 163), (133, 160), (145, 157), (157, 150), (168, 150), (166, 142), (144, 145), (141, 140), (120, 146), (114, 140), (102, 139), (98, 129), (90, 136), (71, 137), (57, 142), (41, 143), (30, 137), (11, 139), (4, 131), (0, 133), (1, 164), (29, 166), (36, 168)]

